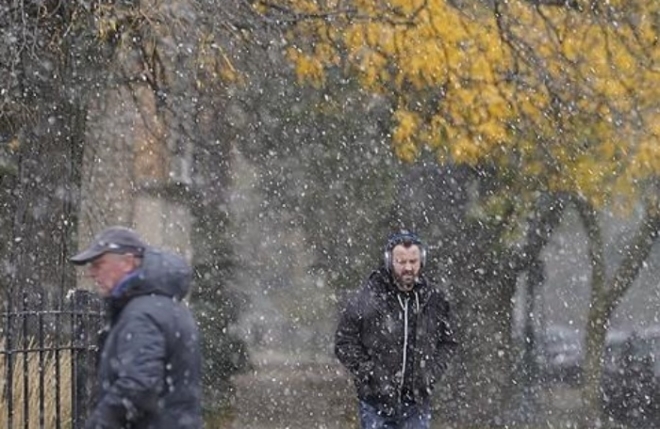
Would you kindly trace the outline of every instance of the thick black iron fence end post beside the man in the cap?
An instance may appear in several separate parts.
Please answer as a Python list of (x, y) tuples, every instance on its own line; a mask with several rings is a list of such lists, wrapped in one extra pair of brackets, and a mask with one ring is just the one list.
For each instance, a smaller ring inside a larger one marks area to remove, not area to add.
[[(88, 290), (77, 289), (72, 296), (74, 318), (73, 365), (74, 385), (72, 392), (73, 428), (83, 428), (92, 401), (96, 375), (97, 334), (100, 328), (100, 302)], [(97, 310), (97, 311), (94, 311)]]

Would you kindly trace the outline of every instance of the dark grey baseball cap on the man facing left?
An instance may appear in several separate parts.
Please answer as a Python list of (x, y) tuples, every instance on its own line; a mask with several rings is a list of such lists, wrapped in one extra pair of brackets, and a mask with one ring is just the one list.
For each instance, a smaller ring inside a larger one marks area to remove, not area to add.
[(70, 261), (84, 265), (105, 253), (130, 253), (141, 257), (146, 248), (145, 242), (132, 229), (111, 226), (101, 231), (85, 250), (73, 256)]

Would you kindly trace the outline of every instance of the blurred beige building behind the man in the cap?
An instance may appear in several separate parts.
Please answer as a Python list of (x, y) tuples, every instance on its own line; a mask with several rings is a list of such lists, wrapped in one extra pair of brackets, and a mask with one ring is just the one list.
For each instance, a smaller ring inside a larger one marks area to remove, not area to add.
[(120, 224), (145, 240), (192, 258), (192, 148), (172, 142), (148, 88), (118, 87), (98, 97), (88, 117), (78, 230), (80, 246)]

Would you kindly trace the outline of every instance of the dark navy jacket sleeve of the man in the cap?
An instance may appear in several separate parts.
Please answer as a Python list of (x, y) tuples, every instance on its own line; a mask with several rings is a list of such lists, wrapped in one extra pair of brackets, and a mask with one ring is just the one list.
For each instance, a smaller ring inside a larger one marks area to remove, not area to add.
[(117, 378), (96, 404), (86, 429), (121, 429), (157, 409), (165, 369), (163, 332), (144, 312), (122, 315), (115, 329), (117, 354), (110, 358), (115, 362)]

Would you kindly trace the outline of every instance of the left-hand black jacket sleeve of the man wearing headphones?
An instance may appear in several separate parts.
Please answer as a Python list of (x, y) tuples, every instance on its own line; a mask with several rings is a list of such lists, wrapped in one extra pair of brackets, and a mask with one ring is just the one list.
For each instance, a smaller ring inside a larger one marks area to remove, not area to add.
[(366, 383), (373, 371), (373, 362), (363, 346), (363, 306), (360, 295), (352, 294), (339, 314), (335, 334), (335, 354), (359, 382)]

